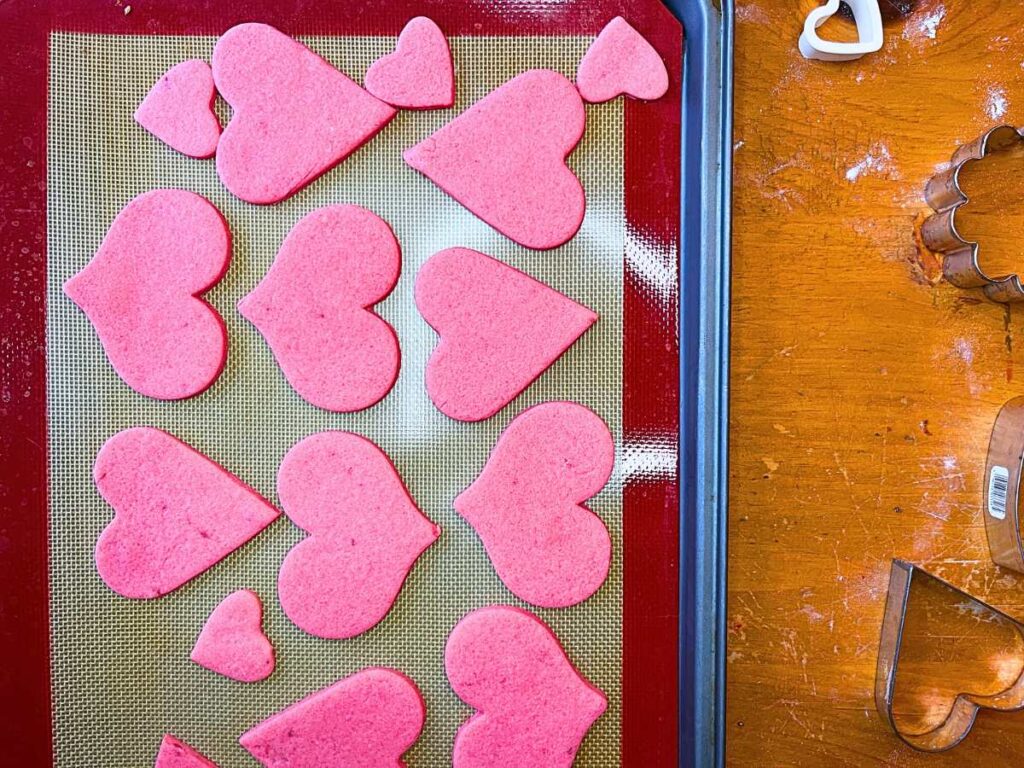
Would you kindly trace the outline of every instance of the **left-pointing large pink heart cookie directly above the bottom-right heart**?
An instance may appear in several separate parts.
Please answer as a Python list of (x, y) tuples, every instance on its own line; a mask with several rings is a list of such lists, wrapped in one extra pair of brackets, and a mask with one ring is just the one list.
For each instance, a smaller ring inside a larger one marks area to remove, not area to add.
[(611, 540), (583, 502), (604, 487), (614, 456), (608, 427), (574, 402), (536, 406), (502, 433), (455, 508), (515, 595), (562, 608), (604, 583)]

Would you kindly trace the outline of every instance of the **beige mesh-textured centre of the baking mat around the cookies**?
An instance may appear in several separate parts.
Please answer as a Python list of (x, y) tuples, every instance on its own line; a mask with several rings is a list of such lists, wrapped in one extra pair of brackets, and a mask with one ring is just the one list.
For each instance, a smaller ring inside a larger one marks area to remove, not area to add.
[[(393, 38), (308, 38), (310, 47), (355, 80)], [(524, 409), (572, 399), (596, 411), (622, 443), (622, 307), (626, 221), (623, 208), (622, 100), (588, 106), (586, 134), (570, 159), (587, 190), (580, 233), (538, 253), (507, 241), (408, 168), (401, 150), (419, 141), (514, 75), (548, 67), (572, 77), (587, 38), (456, 38), (458, 102), (453, 110), (401, 112), (359, 152), (298, 195), (273, 206), (243, 203), (221, 185), (213, 161), (180, 156), (132, 120), (135, 106), (169, 67), (209, 60), (214, 38), (54, 34), (48, 125), (48, 418), (50, 587), (54, 750), (58, 766), (152, 765), (162, 735), (189, 741), (222, 768), (255, 766), (241, 733), (287, 705), (359, 669), (383, 665), (408, 674), (423, 692), (427, 721), (408, 755), (411, 766), (451, 764), (452, 742), (469, 708), (449, 688), (442, 654), (466, 612), (519, 603), (502, 585), (472, 528), (452, 509), (490, 446)], [(219, 104), (222, 119), (227, 110)], [(227, 325), (227, 365), (198, 397), (161, 402), (126, 386), (108, 362), (88, 319), (61, 286), (99, 246), (111, 221), (136, 195), (181, 187), (208, 198), (233, 236), (226, 276), (207, 295)], [(402, 366), (379, 404), (330, 414), (289, 387), (262, 338), (234, 305), (266, 272), (289, 229), (325, 205), (355, 203), (393, 227), (402, 273), (378, 309), (396, 330)], [(430, 402), (423, 371), (434, 332), (413, 302), (414, 278), (433, 253), (467, 246), (565, 293), (600, 321), (551, 370), (493, 419), (454, 422)], [(420, 508), (442, 528), (413, 569), (393, 609), (351, 640), (306, 635), (281, 610), (276, 575), (302, 532), (282, 516), (262, 535), (178, 591), (126, 600), (96, 573), (93, 546), (113, 511), (92, 483), (103, 441), (121, 429), (157, 426), (223, 465), (278, 503), (275, 477), (301, 438), (344, 429), (366, 435), (392, 458)], [(620, 463), (621, 465), (621, 463)], [(622, 474), (591, 503), (611, 532), (614, 558), (600, 591), (564, 610), (536, 610), (581, 672), (605, 692), (578, 765), (618, 764), (622, 638)], [(266, 681), (237, 683), (188, 660), (215, 605), (254, 589), (278, 652)]]

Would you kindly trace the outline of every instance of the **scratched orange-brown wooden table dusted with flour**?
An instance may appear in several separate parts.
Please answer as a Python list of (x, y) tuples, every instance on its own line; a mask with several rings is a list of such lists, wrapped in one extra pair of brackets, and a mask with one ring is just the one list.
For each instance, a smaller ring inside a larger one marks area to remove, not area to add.
[[(894, 557), (1024, 618), (980, 509), (1024, 308), (947, 285), (915, 242), (936, 166), (1024, 124), (1024, 3), (883, 0), (884, 49), (847, 63), (799, 55), (815, 4), (736, 11), (727, 762), (1016, 764), (1024, 713), (923, 756), (872, 686)], [(1016, 161), (971, 227), (1024, 269)]]

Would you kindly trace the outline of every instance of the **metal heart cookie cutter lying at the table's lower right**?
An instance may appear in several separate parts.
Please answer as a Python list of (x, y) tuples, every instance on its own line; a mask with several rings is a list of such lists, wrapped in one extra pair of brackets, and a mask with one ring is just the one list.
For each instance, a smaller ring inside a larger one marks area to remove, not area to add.
[(874, 675), (874, 706), (882, 718), (889, 723), (893, 732), (907, 745), (919, 752), (945, 752), (967, 737), (974, 727), (979, 710), (1012, 712), (1024, 708), (1024, 671), (1013, 683), (997, 693), (989, 695), (957, 693), (946, 719), (927, 733), (900, 731), (893, 713), (893, 694), (896, 690), (896, 671), (903, 643), (907, 601), (914, 579), (937, 582), (942, 587), (952, 591), (955, 597), (962, 598), (972, 605), (980, 605), (1005, 618), (1017, 629), (1022, 639), (1024, 639), (1024, 625), (912, 563), (903, 560), (892, 561), (892, 567), (889, 571), (889, 594), (886, 596), (886, 612), (882, 622), (882, 640), (879, 644), (879, 660)]

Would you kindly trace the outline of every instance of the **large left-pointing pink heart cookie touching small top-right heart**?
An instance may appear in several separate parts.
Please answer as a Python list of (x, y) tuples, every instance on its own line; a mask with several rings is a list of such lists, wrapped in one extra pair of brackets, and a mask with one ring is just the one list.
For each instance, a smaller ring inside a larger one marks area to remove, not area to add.
[(406, 150), (406, 162), (506, 237), (555, 248), (580, 229), (586, 200), (565, 158), (586, 111), (568, 80), (530, 70)]

